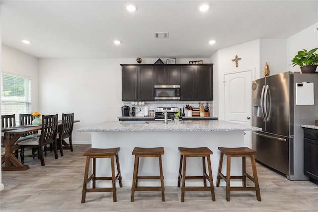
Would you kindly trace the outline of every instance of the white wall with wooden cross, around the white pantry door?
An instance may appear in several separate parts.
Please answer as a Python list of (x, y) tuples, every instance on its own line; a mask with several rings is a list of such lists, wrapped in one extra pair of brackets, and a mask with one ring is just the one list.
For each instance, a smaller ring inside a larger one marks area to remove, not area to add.
[[(211, 62), (213, 64), (218, 64), (214, 69), (218, 73), (218, 90), (219, 98), (214, 99), (214, 107), (217, 107), (219, 104), (219, 114), (214, 114), (219, 117), (219, 120), (225, 120), (225, 111), (224, 111), (224, 73), (241, 71), (250, 68), (255, 69), (255, 77), (259, 78), (259, 40), (254, 40), (232, 46), (225, 49), (220, 49), (217, 56), (213, 55), (211, 57)], [(235, 66), (235, 62), (232, 59), (238, 55), (241, 60), (239, 60), (239, 66)]]

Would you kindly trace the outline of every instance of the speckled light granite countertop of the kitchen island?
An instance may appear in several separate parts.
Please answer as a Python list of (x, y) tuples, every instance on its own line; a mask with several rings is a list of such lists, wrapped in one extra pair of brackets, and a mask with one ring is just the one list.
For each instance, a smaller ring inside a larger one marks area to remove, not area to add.
[[(135, 124), (133, 124), (135, 123)], [(261, 131), (261, 128), (245, 126), (227, 121), (106, 121), (77, 129), (79, 132), (166, 132), (166, 131)]]

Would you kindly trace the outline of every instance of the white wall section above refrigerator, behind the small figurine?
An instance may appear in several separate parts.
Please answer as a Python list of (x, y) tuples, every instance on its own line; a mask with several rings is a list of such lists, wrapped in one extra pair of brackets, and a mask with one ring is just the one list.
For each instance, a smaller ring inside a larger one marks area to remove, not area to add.
[(286, 67), (286, 39), (260, 39), (259, 62), (260, 76), (264, 76), (264, 66), (267, 62), (270, 75), (288, 71)]

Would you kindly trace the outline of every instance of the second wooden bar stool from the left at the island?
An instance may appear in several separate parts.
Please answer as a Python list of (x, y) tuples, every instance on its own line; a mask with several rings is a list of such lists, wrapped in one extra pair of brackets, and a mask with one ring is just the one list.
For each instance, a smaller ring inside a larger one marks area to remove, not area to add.
[[(135, 147), (134, 148), (133, 155), (135, 155), (135, 164), (134, 164), (133, 186), (131, 189), (131, 202), (134, 202), (135, 191), (161, 191), (162, 202), (165, 201), (161, 154), (164, 154), (163, 147), (157, 147), (157, 148)], [(140, 157), (158, 157), (160, 176), (138, 176)], [(138, 187), (138, 180), (160, 180), (161, 186), (160, 187)]]

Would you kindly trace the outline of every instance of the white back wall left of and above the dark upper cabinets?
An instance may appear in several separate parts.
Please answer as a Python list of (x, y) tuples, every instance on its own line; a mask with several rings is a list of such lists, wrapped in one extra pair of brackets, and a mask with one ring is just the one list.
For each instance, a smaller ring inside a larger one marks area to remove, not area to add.
[[(143, 59), (154, 64), (158, 59)], [(161, 59), (165, 63), (165, 59)], [(197, 59), (177, 59), (188, 64)], [(210, 59), (203, 59), (210, 63)], [(91, 141), (89, 132), (76, 129), (121, 116), (121, 66), (137, 64), (136, 59), (39, 59), (39, 112), (72, 113), (75, 123), (73, 141)]]

